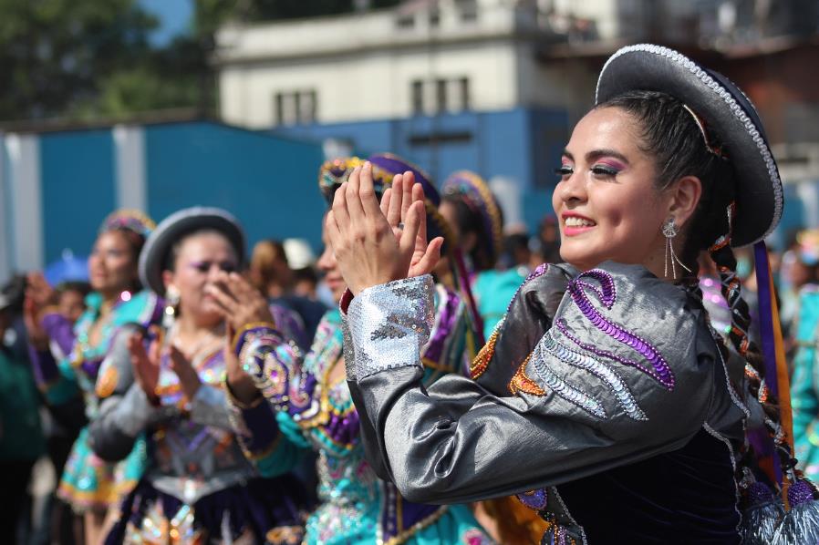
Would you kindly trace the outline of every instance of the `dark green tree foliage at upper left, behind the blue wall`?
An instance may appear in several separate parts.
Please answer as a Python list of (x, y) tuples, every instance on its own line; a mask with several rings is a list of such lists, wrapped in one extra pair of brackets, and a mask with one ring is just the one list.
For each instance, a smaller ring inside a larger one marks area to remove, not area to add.
[(215, 77), (208, 59), (226, 21), (360, 7), (357, 0), (191, 1), (189, 32), (155, 47), (150, 32), (159, 21), (138, 0), (0, 0), (0, 119), (90, 120), (164, 108), (212, 112)]

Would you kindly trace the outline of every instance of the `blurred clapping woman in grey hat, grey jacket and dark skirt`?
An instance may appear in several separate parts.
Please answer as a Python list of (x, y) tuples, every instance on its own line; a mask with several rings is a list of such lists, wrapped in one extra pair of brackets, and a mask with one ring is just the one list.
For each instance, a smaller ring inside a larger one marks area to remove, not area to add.
[[(171, 214), (145, 244), (140, 277), (165, 298), (164, 327), (119, 335), (102, 366), (109, 391), (90, 430), (91, 446), (109, 460), (129, 452), (140, 434), (148, 437), (145, 475), (107, 543), (300, 540), (303, 487), (289, 474), (258, 475), (225, 403), (232, 331), (209, 290), (243, 265), (244, 232), (219, 209)], [(288, 311), (263, 312), (295, 334)]]

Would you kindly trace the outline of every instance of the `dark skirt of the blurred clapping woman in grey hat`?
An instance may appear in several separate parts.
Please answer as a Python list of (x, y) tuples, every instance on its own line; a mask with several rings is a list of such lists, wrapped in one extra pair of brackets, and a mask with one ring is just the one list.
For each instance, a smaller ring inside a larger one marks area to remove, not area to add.
[[(122, 502), (121, 516), (109, 532), (106, 545), (140, 541), (146, 519), (160, 514), (162, 524), (150, 523), (151, 538), (184, 543), (196, 533), (204, 542), (219, 542), (226, 531), (232, 540), (252, 536), (256, 543), (301, 543), (308, 505), (304, 485), (295, 477), (253, 478), (204, 496), (189, 509), (174, 496), (142, 479)], [(187, 517), (186, 513), (189, 513)], [(185, 521), (187, 519), (187, 522)], [(173, 522), (171, 522), (173, 520)], [(176, 532), (176, 533), (174, 533)]]

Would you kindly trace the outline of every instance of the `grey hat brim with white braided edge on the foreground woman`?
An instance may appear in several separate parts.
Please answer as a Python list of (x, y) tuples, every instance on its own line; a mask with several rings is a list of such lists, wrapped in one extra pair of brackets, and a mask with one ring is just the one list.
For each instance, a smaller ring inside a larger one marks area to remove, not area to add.
[(727, 149), (737, 180), (731, 245), (762, 241), (782, 218), (783, 188), (762, 122), (739, 87), (673, 49), (649, 44), (623, 47), (606, 61), (597, 80), (596, 104), (631, 90), (679, 98), (703, 118)]

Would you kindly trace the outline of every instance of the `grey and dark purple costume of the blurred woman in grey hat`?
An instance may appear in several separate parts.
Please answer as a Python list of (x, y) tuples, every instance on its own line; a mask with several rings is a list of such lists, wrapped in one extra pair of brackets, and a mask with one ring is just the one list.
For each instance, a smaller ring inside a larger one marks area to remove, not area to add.
[[(274, 311), (283, 324), (293, 324), (289, 311)], [(131, 331), (123, 331), (103, 364), (103, 373), (115, 369), (117, 383), (90, 426), (90, 444), (100, 457), (118, 459), (145, 434), (148, 460), (106, 542), (300, 540), (303, 485), (289, 474), (260, 477), (236, 441), (225, 401), (223, 344), (206, 346), (193, 357), (202, 386), (190, 402), (164, 357), (160, 403), (153, 406), (131, 372), (125, 344)]]

